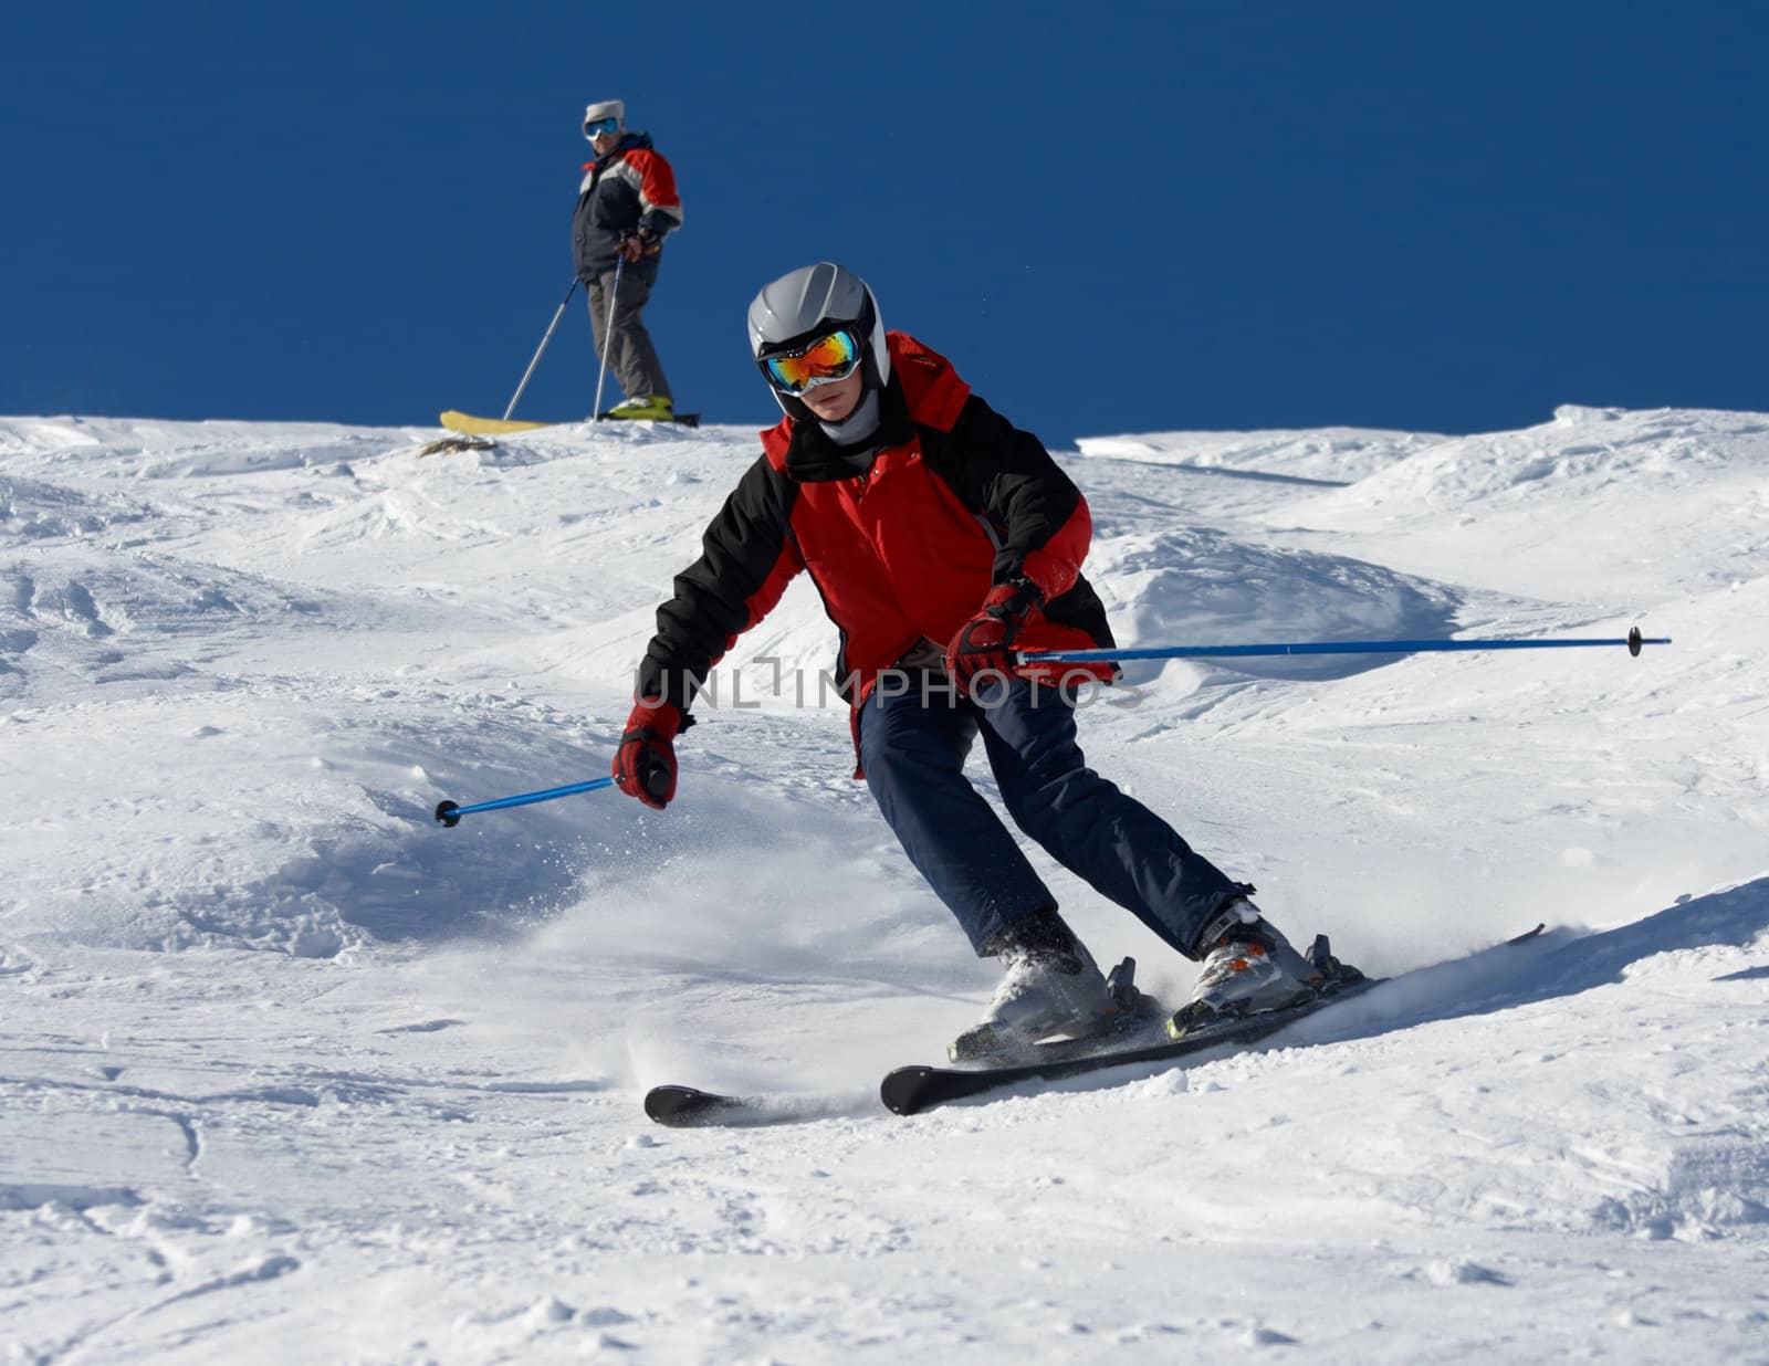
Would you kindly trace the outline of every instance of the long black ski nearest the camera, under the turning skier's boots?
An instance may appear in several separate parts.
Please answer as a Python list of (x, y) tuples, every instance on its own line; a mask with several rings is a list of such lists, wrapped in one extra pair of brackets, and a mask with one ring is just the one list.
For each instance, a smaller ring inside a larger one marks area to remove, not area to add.
[[(1505, 940), (1505, 943), (1528, 943), (1544, 929), (1546, 925), (1535, 925), (1535, 929)], [(881, 1083), (879, 1099), (893, 1115), (918, 1115), (930, 1106), (984, 1095), (1022, 1081), (1060, 1081), (1061, 1078), (1100, 1072), (1109, 1067), (1180, 1062), (1222, 1044), (1256, 1044), (1295, 1024), (1298, 1019), (1313, 1016), (1316, 1010), (1325, 1010), (1352, 996), (1360, 996), (1385, 980), (1389, 978), (1362, 975), (1341, 978), (1329, 982), (1318, 994), (1298, 1005), (1261, 1010), (1254, 1016), (1240, 1016), (1238, 1019), (1214, 1021), (1187, 1030), (1178, 1039), (1141, 1048), (1095, 1048), (1077, 1053), (1076, 1044), (1045, 1044), (1040, 1048), (1049, 1048), (1051, 1055), (1005, 1067), (897, 1067)]]

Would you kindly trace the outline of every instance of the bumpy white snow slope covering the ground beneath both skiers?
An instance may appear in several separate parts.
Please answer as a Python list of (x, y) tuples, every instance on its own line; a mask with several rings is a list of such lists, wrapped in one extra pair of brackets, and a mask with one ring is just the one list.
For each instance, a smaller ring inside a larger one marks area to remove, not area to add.
[(0, 1361), (1769, 1361), (1769, 418), (1063, 455), (1125, 644), (1675, 646), (1137, 665), (1090, 757), (1398, 977), (913, 1120), (992, 973), (808, 584), (667, 814), (430, 819), (607, 771), (754, 434), (430, 435), (0, 419)]

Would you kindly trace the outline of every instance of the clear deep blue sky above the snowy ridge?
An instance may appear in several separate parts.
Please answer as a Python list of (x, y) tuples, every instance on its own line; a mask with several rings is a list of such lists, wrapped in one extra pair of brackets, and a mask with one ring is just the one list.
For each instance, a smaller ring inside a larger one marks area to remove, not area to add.
[[(777, 416), (743, 311), (819, 257), (1051, 442), (1769, 409), (1765, 50), (1755, 0), (9, 5), (0, 412), (502, 412), (601, 97), (709, 419)], [(580, 297), (520, 416), (589, 411)]]

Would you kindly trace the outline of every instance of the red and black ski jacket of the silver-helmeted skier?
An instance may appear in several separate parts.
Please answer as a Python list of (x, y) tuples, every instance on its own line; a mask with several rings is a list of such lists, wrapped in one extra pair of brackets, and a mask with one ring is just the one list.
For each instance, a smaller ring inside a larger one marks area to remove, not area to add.
[[(658, 609), (639, 695), (683, 711), (697, 683), (803, 570), (840, 628), (835, 678), (860, 706), (881, 671), (939, 646), (989, 589), (1026, 577), (1045, 596), (1019, 649), (1113, 644), (1081, 577), (1093, 524), (1081, 490), (1030, 432), (976, 398), (939, 354), (888, 333), (881, 426), (839, 448), (821, 423), (784, 418)], [(1109, 678), (1109, 667), (1088, 671)]]

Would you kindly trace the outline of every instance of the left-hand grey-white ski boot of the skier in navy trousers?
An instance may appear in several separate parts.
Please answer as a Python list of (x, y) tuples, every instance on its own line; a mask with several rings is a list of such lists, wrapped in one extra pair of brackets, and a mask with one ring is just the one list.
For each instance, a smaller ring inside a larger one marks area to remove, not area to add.
[(1040, 1039), (1097, 1033), (1118, 1003), (1086, 945), (1056, 909), (1008, 925), (989, 945), (1003, 977), (982, 1023), (946, 1048), (952, 1062), (1024, 1055)]

